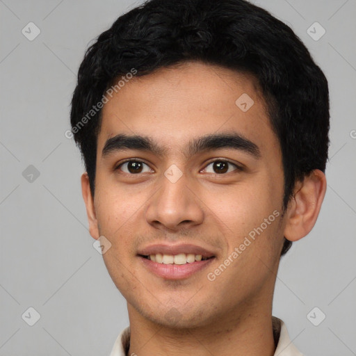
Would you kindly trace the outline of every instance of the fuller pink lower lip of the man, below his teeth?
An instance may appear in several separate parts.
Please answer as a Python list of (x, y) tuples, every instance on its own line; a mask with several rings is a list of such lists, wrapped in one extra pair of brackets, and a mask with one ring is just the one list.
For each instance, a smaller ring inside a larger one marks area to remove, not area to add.
[(159, 264), (158, 262), (139, 257), (148, 270), (166, 280), (183, 280), (194, 273), (206, 268), (215, 257), (205, 259), (204, 261), (195, 261), (191, 264)]

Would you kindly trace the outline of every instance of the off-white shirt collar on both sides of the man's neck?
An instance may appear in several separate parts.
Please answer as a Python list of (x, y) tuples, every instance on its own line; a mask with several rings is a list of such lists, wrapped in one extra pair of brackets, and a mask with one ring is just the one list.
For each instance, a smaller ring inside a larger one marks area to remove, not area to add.
[[(273, 321), (273, 337), (277, 347), (274, 356), (303, 356), (300, 351), (293, 345), (289, 338), (286, 325), (280, 318), (272, 317)], [(110, 356), (130, 356), (128, 355), (130, 346), (130, 327), (126, 327), (120, 332), (115, 341)]]

